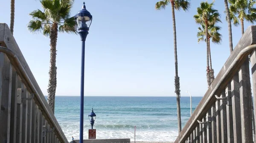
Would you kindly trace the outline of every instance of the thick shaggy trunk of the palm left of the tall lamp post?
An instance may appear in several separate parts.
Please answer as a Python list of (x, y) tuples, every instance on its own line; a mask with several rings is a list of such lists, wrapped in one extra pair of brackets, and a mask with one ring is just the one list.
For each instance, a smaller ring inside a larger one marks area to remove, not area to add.
[(47, 102), (54, 113), (55, 107), (55, 92), (57, 86), (57, 67), (56, 67), (56, 44), (58, 37), (58, 25), (52, 24), (50, 31), (50, 69), (49, 69), (49, 84)]

